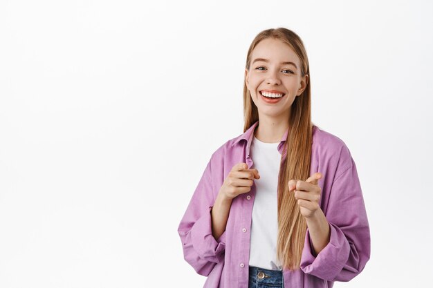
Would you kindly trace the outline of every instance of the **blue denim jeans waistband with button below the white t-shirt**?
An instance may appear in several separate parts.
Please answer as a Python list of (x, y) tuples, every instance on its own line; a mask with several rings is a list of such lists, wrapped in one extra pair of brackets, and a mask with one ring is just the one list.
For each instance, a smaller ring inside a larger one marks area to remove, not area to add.
[(250, 266), (248, 288), (284, 288), (283, 273)]

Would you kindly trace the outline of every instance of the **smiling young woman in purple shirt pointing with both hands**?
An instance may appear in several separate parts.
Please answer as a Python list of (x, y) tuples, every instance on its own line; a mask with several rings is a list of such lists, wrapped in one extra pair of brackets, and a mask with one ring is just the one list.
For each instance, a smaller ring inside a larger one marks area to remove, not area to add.
[(300, 37), (260, 32), (246, 59), (244, 133), (212, 154), (178, 227), (205, 287), (332, 287), (369, 260), (355, 162), (311, 122), (310, 87)]

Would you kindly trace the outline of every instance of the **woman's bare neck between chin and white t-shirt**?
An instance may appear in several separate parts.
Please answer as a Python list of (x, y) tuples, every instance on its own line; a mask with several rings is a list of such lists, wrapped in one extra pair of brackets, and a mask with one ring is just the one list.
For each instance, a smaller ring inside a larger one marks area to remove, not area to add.
[(261, 142), (277, 143), (281, 141), (288, 128), (288, 118), (275, 119), (259, 117), (259, 125), (255, 128), (254, 135)]

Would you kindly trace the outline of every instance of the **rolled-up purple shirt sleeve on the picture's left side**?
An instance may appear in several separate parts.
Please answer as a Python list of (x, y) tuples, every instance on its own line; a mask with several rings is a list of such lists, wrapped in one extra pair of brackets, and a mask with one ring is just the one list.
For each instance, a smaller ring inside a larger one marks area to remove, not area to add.
[(216, 263), (223, 261), (225, 252), (225, 231), (219, 239), (212, 236), (210, 212), (215, 199), (212, 191), (211, 162), (212, 158), (178, 226), (183, 256), (194, 270), (203, 276), (208, 276)]

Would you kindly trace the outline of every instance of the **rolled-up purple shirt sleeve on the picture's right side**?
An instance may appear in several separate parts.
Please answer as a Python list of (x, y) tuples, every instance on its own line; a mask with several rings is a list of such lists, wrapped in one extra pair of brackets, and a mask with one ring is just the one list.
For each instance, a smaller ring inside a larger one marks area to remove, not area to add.
[(325, 216), (331, 231), (329, 243), (315, 255), (307, 229), (301, 269), (328, 281), (349, 281), (364, 269), (370, 258), (370, 232), (356, 171), (346, 148), (349, 165), (335, 176)]

